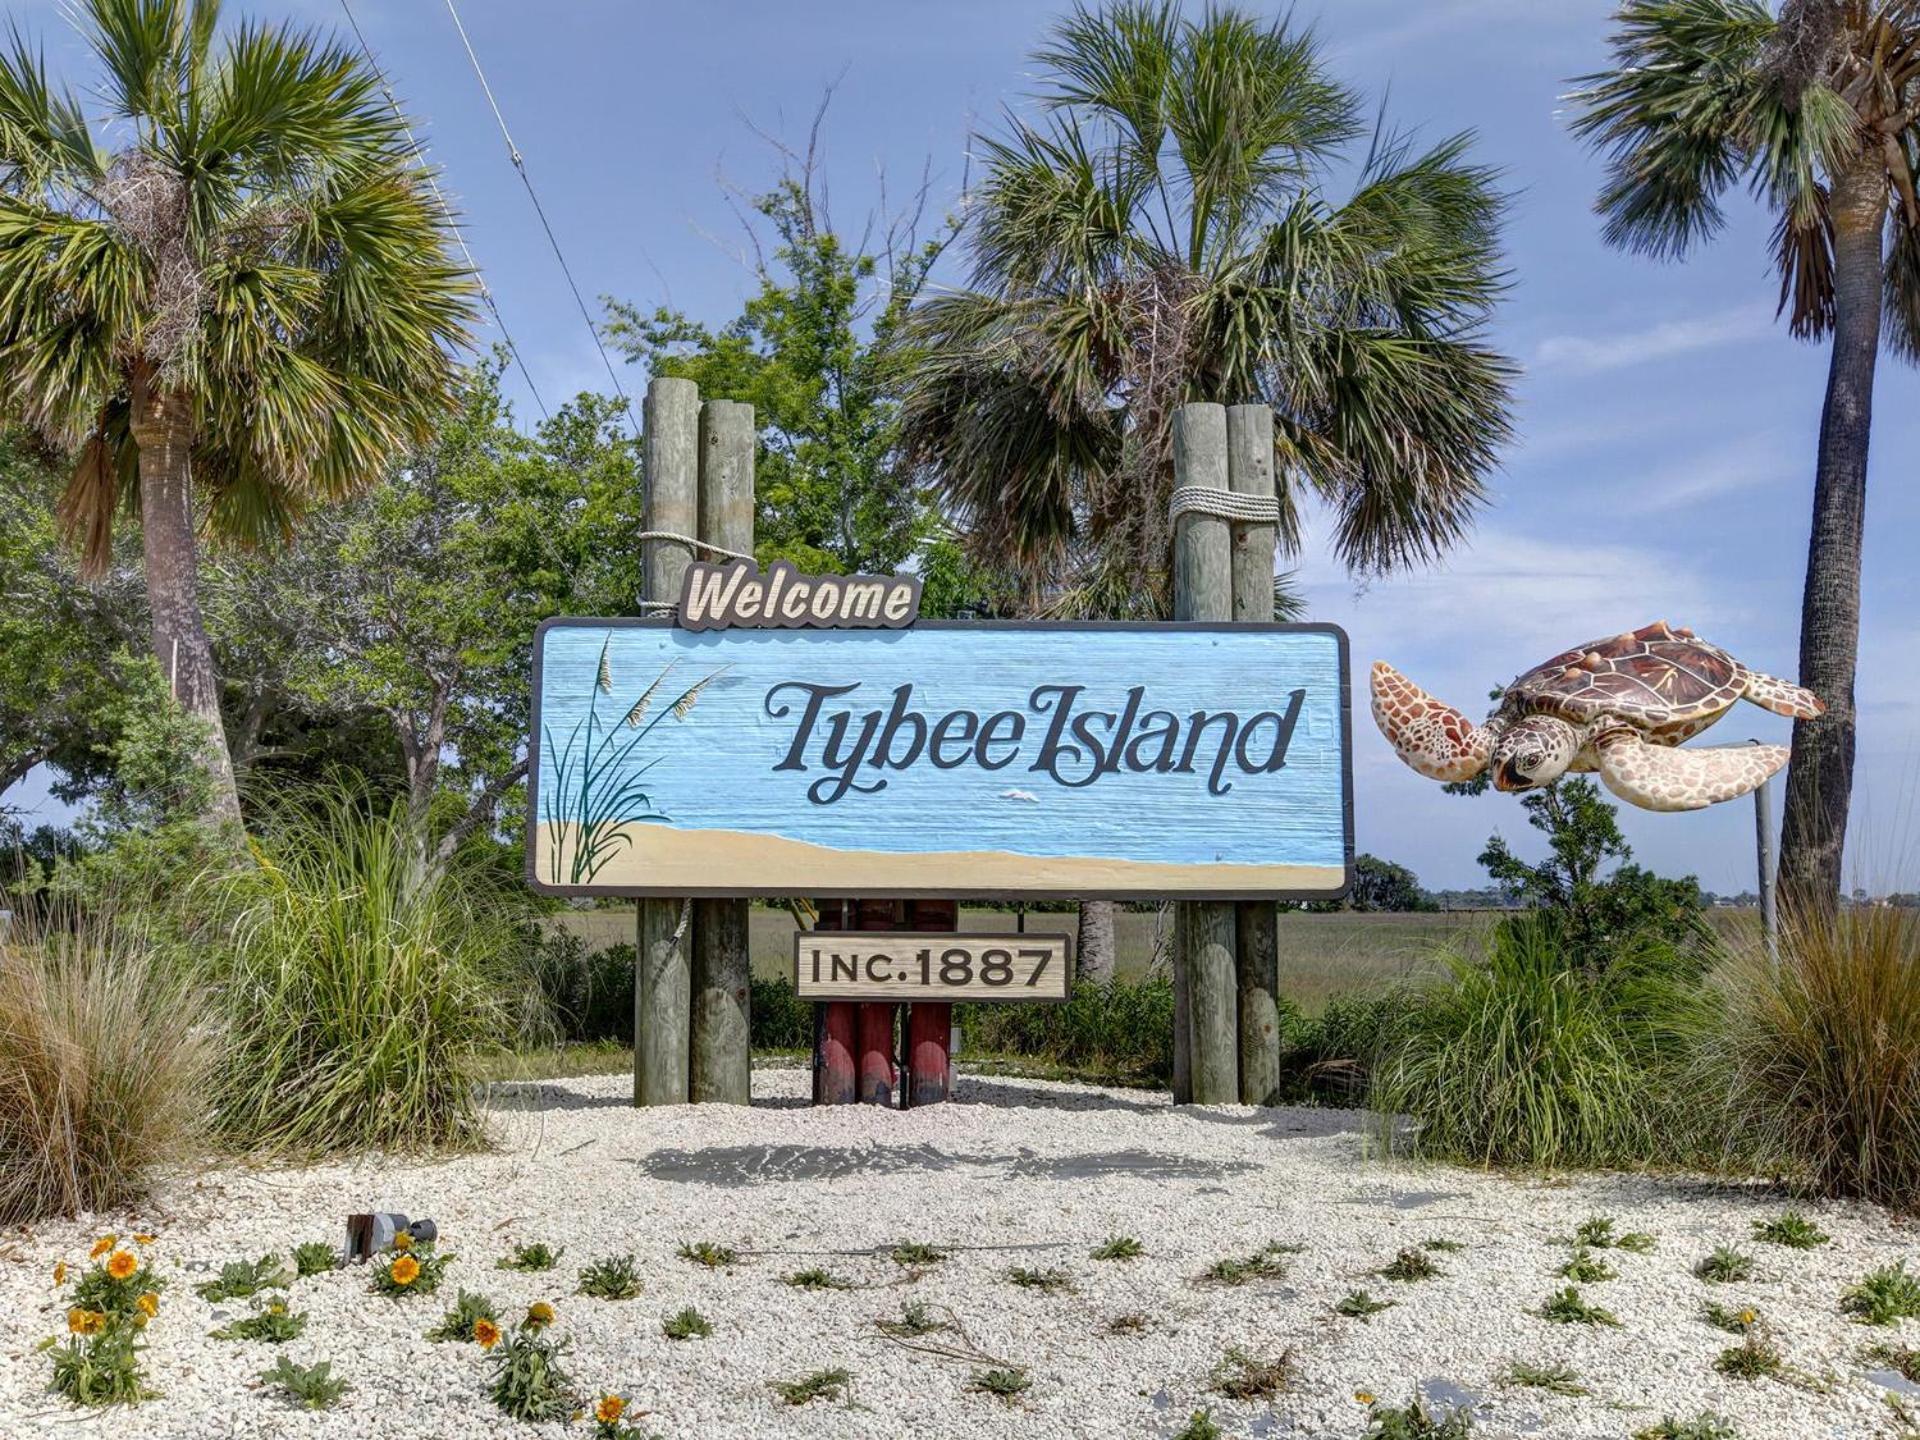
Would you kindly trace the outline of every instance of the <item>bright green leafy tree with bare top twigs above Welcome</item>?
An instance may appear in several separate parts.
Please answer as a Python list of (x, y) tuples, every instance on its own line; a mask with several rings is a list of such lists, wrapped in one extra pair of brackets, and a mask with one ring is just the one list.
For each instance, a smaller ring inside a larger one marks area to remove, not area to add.
[[(824, 108), (822, 108), (824, 113)], [(918, 240), (920, 207), (835, 230), (818, 177), (820, 119), (804, 156), (755, 213), (758, 292), (710, 328), (674, 309), (641, 313), (609, 300), (607, 336), (653, 374), (695, 380), (703, 396), (755, 407), (755, 551), (803, 570), (887, 574), (929, 538), (933, 513), (899, 457), (900, 321), (947, 232)], [(770, 250), (770, 255), (766, 253)]]

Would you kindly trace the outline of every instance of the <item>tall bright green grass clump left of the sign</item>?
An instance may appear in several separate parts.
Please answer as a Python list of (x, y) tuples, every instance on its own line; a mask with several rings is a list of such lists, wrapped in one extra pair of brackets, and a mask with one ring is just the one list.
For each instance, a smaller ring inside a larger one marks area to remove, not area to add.
[(420, 1150), (484, 1139), (465, 1066), (507, 1033), (505, 889), (424, 866), (405, 806), (351, 789), (282, 803), (232, 908), (221, 1133), (263, 1150)]

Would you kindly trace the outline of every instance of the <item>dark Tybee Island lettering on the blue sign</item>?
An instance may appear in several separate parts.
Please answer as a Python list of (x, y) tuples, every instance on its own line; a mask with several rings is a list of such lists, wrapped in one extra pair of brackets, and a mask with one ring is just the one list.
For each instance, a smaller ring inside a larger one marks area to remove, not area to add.
[(1023, 708), (927, 714), (914, 685), (897, 685), (885, 707), (860, 707), (858, 682), (845, 685), (783, 680), (766, 691), (766, 712), (793, 718), (793, 739), (774, 770), (826, 774), (806, 785), (814, 804), (887, 789), (887, 772), (916, 764), (933, 770), (1021, 770), (1066, 789), (1085, 789), (1117, 774), (1204, 774), (1208, 795), (1227, 795), (1233, 776), (1269, 776), (1286, 766), (1306, 689), (1284, 708), (1192, 710), (1148, 707), (1146, 685), (1129, 685), (1102, 708), (1087, 685), (1035, 685)]

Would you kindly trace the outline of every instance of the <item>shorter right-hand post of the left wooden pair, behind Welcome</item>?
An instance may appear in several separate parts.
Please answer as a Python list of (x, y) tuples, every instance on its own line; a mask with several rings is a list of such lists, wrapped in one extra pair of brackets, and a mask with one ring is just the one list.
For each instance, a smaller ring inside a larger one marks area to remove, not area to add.
[[(753, 405), (708, 399), (701, 407), (699, 536), (753, 553)], [(753, 956), (747, 900), (693, 902), (693, 1041), (689, 1092), (695, 1102), (743, 1106), (753, 1089)]]

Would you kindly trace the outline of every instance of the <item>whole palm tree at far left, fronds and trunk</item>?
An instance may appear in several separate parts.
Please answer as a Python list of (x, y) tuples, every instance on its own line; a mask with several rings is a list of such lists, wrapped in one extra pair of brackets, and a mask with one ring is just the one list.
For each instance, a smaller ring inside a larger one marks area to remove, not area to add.
[(284, 534), (424, 442), (472, 319), (449, 219), (371, 65), (215, 0), (84, 0), (113, 150), (44, 56), (0, 54), (0, 405), (75, 455), (63, 518), (106, 563), (138, 511), (154, 655), (205, 722), (202, 534)]

